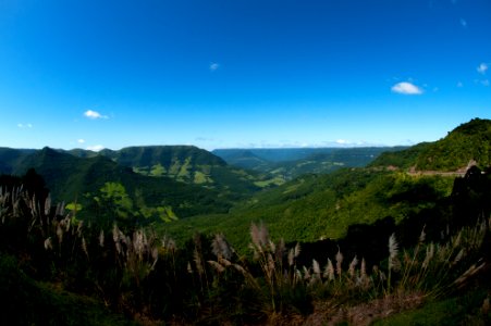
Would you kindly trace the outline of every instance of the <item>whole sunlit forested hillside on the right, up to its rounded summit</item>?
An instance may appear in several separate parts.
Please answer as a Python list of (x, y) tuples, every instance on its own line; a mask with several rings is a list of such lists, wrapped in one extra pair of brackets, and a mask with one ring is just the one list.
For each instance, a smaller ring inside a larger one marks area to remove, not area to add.
[[(255, 195), (235, 205), (230, 214), (199, 216), (164, 228), (180, 239), (198, 230), (225, 231), (245, 248), (253, 221), (263, 221), (272, 235), (281, 235), (285, 241), (317, 241), (342, 238), (349, 225), (372, 224), (388, 216), (396, 223), (443, 216), (446, 213), (441, 212), (442, 203), (449, 201), (455, 178), (454, 174), (444, 172), (467, 167), (470, 160), (476, 160), (482, 170), (489, 167), (490, 151), (482, 150), (491, 146), (489, 125), (490, 121), (472, 120), (435, 142), (381, 153), (368, 167), (303, 175)], [(453, 143), (457, 148), (467, 145), (458, 160), (451, 150)], [(429, 158), (434, 165), (418, 163), (428, 162)], [(442, 174), (409, 174), (415, 165)]]

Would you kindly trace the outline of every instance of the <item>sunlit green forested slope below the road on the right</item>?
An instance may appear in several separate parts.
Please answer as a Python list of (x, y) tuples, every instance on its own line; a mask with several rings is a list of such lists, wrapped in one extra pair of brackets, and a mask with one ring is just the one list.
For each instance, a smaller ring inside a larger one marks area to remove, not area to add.
[(385, 216), (401, 222), (437, 210), (450, 196), (453, 183), (444, 176), (340, 170), (307, 175), (258, 193), (226, 215), (194, 216), (161, 228), (179, 243), (196, 231), (223, 231), (240, 250), (247, 248), (250, 222), (260, 221), (287, 242), (339, 239), (355, 223), (372, 224)]

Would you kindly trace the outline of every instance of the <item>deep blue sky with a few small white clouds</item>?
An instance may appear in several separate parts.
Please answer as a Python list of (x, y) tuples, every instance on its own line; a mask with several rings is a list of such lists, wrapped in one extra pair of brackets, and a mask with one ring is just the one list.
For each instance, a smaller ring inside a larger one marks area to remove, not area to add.
[(490, 0), (0, 0), (0, 146), (433, 141), (488, 66)]

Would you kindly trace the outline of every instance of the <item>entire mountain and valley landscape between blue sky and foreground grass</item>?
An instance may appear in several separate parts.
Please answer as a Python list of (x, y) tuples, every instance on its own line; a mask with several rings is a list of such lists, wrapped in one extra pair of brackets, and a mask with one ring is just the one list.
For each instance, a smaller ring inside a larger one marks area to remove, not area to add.
[[(452, 178), (433, 176), (421, 181), (407, 178), (406, 172), (455, 172), (469, 162), (486, 168), (491, 162), (490, 143), (491, 121), (475, 118), (435, 142), (410, 148), (213, 152), (192, 146), (100, 152), (0, 148), (0, 174), (22, 175), (35, 168), (52, 199), (81, 203), (82, 216), (93, 212), (96, 199), (109, 196), (108, 189), (120, 189), (118, 196), (127, 197), (136, 211), (197, 216), (167, 225), (173, 235), (183, 228), (224, 227), (233, 233), (251, 220), (262, 220), (272, 230), (287, 229), (291, 239), (314, 240), (340, 237), (360, 218), (371, 223), (383, 215), (401, 220), (413, 214), (417, 209), (410, 202), (386, 201), (390, 196), (404, 197), (412, 187), (429, 196), (420, 200), (420, 206), (433, 205), (449, 195)], [(147, 213), (142, 214), (151, 215)]]

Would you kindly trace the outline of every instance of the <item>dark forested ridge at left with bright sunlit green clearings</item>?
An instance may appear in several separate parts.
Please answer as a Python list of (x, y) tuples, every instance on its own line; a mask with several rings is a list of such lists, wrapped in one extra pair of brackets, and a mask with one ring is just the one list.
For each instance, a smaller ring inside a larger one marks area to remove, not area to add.
[(76, 202), (78, 214), (90, 218), (114, 213), (99, 208), (110, 203), (118, 214), (150, 223), (204, 212), (225, 213), (237, 200), (234, 195), (164, 176), (140, 175), (102, 155), (83, 159), (49, 148), (22, 155), (10, 168), (13, 175), (34, 168), (46, 180), (53, 201)]

